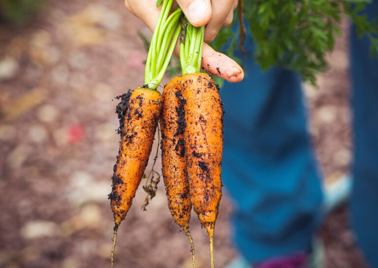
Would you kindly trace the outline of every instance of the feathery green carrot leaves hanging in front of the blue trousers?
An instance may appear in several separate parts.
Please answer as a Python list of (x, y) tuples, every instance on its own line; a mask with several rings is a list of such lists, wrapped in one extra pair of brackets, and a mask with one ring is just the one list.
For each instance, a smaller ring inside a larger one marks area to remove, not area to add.
[[(315, 84), (316, 74), (327, 66), (325, 55), (341, 35), (343, 16), (351, 19), (359, 35), (371, 41), (378, 55), (377, 21), (368, 22), (360, 11), (370, 0), (244, 0), (244, 16), (255, 42), (253, 57), (263, 70), (281, 66)], [(351, 4), (355, 4), (351, 7)], [(212, 43), (214, 49), (233, 57), (238, 30), (224, 28)], [(235, 27), (234, 27), (235, 28)], [(226, 49), (224, 49), (226, 44)]]

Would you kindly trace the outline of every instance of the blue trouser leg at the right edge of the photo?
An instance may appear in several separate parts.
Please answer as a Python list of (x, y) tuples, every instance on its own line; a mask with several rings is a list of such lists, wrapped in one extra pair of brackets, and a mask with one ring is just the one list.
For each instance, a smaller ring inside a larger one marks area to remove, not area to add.
[[(378, 1), (368, 5), (378, 17)], [(357, 242), (370, 264), (378, 268), (378, 59), (370, 57), (367, 37), (351, 32), (353, 107), (353, 177), (351, 220)]]

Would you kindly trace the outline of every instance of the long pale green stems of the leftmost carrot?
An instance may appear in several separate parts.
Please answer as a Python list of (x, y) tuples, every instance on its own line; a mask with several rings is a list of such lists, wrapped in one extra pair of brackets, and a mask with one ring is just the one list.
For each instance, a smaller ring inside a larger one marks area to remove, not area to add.
[(161, 10), (148, 51), (144, 78), (144, 87), (150, 89), (158, 88), (181, 32), (181, 24), (179, 24), (183, 13), (181, 8), (177, 7), (169, 15), (173, 0), (160, 0), (157, 6), (160, 2), (162, 2)]

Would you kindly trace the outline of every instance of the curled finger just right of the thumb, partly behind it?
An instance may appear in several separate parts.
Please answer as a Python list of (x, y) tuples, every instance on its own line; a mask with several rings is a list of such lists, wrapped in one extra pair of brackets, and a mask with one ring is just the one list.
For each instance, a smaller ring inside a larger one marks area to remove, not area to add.
[(205, 29), (204, 41), (211, 43), (218, 34), (219, 29), (223, 25), (225, 19), (232, 12), (235, 0), (213, 1), (213, 16)]

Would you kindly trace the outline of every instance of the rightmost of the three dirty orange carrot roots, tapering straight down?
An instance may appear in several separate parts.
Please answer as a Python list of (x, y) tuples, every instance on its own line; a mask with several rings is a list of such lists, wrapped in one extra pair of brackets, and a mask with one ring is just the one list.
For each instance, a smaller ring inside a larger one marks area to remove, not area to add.
[(194, 210), (209, 234), (214, 267), (214, 227), (222, 195), (223, 108), (217, 86), (207, 74), (188, 74), (184, 79), (184, 144), (189, 191)]

